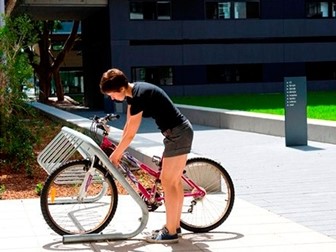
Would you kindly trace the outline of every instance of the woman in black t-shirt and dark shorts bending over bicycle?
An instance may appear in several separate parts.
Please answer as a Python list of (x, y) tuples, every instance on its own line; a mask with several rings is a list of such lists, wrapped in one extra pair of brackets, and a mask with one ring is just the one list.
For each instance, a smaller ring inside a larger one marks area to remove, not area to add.
[(145, 82), (129, 83), (119, 69), (113, 68), (103, 74), (100, 90), (112, 100), (126, 99), (128, 104), (121, 140), (110, 156), (114, 165), (118, 165), (122, 154), (135, 137), (142, 117), (152, 117), (165, 136), (160, 179), (165, 195), (166, 224), (161, 230), (154, 231), (147, 241), (178, 242), (183, 203), (181, 175), (193, 140), (193, 129), (189, 120), (161, 88)]

